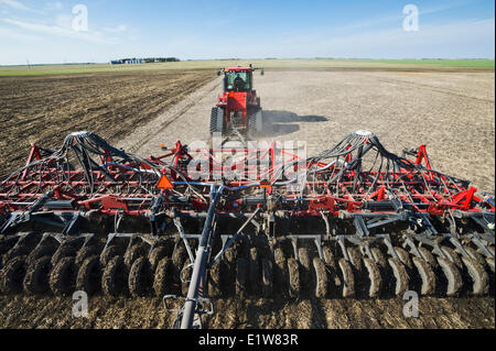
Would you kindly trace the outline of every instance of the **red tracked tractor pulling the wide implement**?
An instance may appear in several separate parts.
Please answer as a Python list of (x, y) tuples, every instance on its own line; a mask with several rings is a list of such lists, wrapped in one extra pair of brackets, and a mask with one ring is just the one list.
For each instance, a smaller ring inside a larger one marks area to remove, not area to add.
[[(212, 109), (211, 134), (240, 132), (255, 136), (263, 128), (260, 98), (254, 90), (254, 72), (257, 68), (224, 68), (224, 94)], [(263, 75), (263, 69), (261, 70)]]

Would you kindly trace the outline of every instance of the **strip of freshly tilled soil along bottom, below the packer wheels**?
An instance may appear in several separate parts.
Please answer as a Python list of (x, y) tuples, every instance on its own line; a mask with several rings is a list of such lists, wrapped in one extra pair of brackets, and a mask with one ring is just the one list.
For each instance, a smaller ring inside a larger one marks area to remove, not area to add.
[[(2, 328), (170, 328), (175, 315), (159, 298), (89, 299), (88, 318), (72, 315), (71, 297), (0, 297)], [(492, 297), (420, 298), (419, 317), (405, 318), (393, 299), (218, 299), (205, 328), (494, 328)], [(176, 305), (175, 307), (179, 307)]]

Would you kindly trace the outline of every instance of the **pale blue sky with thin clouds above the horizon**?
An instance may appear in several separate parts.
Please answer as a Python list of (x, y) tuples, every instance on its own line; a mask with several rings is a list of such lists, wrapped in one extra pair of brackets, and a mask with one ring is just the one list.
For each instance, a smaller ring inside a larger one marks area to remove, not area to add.
[[(405, 31), (403, 7), (419, 9)], [(74, 31), (84, 4), (88, 30)], [(0, 65), (119, 57), (494, 58), (494, 0), (0, 0)]]

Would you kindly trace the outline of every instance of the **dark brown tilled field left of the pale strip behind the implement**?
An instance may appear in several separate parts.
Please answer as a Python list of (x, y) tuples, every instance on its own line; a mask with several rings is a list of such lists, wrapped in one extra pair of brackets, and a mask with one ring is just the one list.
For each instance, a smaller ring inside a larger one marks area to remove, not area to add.
[(0, 174), (19, 168), (30, 143), (57, 147), (74, 131), (117, 142), (215, 77), (142, 72), (0, 78)]

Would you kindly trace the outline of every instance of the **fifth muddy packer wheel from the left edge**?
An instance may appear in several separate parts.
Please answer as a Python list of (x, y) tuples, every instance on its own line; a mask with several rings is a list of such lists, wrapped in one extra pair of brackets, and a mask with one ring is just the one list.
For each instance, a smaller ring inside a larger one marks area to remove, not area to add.
[(121, 256), (115, 256), (105, 266), (101, 289), (107, 296), (119, 296), (128, 292), (129, 268)]

